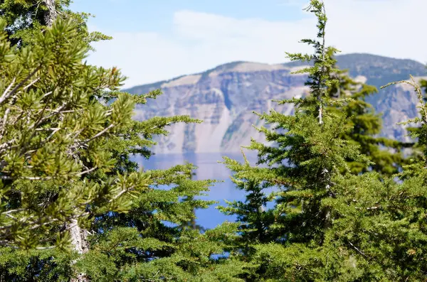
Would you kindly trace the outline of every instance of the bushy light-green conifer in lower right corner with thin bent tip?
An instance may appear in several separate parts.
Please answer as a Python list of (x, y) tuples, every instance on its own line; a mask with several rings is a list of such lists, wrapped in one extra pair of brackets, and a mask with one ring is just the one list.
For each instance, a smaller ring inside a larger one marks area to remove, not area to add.
[[(426, 148), (427, 105), (421, 88), (415, 87), (420, 124), (411, 136), (416, 147)], [(329, 280), (341, 281), (423, 281), (427, 246), (426, 151), (419, 160), (404, 166), (400, 181), (379, 179), (377, 173), (336, 178), (334, 198), (324, 205), (333, 207), (334, 224), (327, 231), (324, 254), (330, 254)], [(339, 250), (333, 254), (333, 250)], [(331, 256), (332, 254), (332, 256)], [(334, 263), (332, 263), (334, 261)], [(325, 263), (322, 264), (323, 266)], [(319, 269), (320, 271), (320, 269)]]

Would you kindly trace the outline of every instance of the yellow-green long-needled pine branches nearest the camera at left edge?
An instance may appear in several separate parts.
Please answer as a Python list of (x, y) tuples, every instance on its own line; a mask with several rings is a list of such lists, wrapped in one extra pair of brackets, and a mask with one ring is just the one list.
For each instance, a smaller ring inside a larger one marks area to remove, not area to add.
[[(4, 21), (0, 27), (4, 29)], [(117, 96), (108, 109), (90, 101), (88, 92), (115, 89), (121, 78), (84, 65), (85, 43), (68, 40), (75, 33), (73, 24), (58, 21), (36, 36), (33, 48), (20, 50), (1, 34), (3, 246), (33, 248), (46, 242), (62, 247), (67, 235), (55, 239), (53, 226), (70, 219), (85, 221), (102, 209), (125, 211), (131, 197), (149, 184), (146, 173), (106, 181), (85, 176), (114, 167), (105, 143), (127, 126), (135, 103), (125, 95)], [(102, 76), (109, 81), (100, 81)]]

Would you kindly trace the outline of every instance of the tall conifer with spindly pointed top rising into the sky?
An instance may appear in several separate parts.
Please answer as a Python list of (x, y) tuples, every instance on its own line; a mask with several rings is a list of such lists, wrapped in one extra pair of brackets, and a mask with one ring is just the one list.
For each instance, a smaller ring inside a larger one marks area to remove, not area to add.
[[(291, 60), (310, 58), (312, 67), (299, 72), (308, 72), (307, 85), (310, 96), (300, 99), (285, 100), (281, 103), (295, 104), (295, 115), (285, 116), (275, 111), (259, 114), (268, 124), (275, 124), (272, 129), (260, 128), (267, 141), (275, 146), (252, 141), (248, 148), (258, 151), (258, 163), (265, 164), (269, 172), (275, 175), (265, 177), (264, 170), (258, 169), (253, 175), (258, 183), (278, 185), (275, 206), (276, 219), (274, 228), (283, 229), (283, 236), (288, 242), (308, 242), (311, 239), (322, 242), (322, 227), (330, 224), (329, 211), (322, 210), (320, 200), (332, 197), (330, 189), (334, 185), (332, 178), (341, 168), (347, 169), (347, 161), (367, 163), (358, 152), (357, 144), (340, 136), (347, 134), (351, 126), (347, 116), (339, 112), (325, 112), (325, 106), (333, 104), (327, 94), (336, 79), (331, 76), (334, 60), (331, 55), (334, 48), (323, 45), (325, 37), (326, 16), (320, 1), (312, 1), (307, 8), (318, 18), (318, 40), (302, 40), (313, 45), (314, 55), (288, 54)], [(339, 102), (346, 103), (342, 99)], [(300, 206), (295, 211), (295, 207)], [(295, 230), (295, 231), (293, 231)]]

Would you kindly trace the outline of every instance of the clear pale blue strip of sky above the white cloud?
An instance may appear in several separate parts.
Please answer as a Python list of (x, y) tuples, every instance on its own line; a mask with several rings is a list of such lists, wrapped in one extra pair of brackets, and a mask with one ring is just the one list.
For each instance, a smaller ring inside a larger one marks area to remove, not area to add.
[[(74, 0), (71, 9), (95, 14), (90, 23), (110, 31), (168, 33), (176, 11), (199, 11), (237, 19), (293, 21), (306, 17), (302, 0)], [(114, 20), (112, 20), (114, 19)]]

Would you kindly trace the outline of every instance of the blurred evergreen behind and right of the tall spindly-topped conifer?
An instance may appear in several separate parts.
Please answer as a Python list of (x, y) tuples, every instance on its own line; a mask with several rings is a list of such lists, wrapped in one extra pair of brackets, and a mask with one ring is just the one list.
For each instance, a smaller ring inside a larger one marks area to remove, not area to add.
[[(332, 54), (328, 55), (332, 56)], [(352, 129), (344, 133), (342, 138), (359, 145), (360, 153), (371, 161), (369, 166), (349, 161), (347, 164), (352, 173), (366, 173), (369, 170), (386, 176), (398, 173), (399, 169), (407, 163), (401, 152), (402, 148), (409, 147), (411, 144), (378, 136), (381, 132), (381, 116), (375, 114), (374, 107), (366, 101), (367, 97), (378, 92), (376, 87), (352, 80), (347, 70), (336, 70), (330, 75), (335, 80), (327, 89), (328, 95), (334, 99), (352, 98), (343, 107), (329, 109), (345, 112), (349, 117), (347, 122)]]

